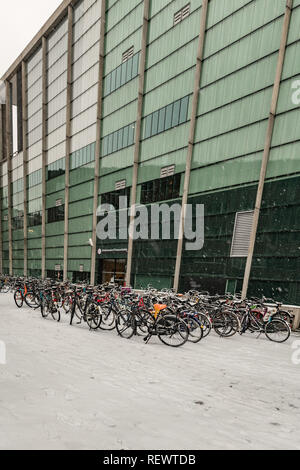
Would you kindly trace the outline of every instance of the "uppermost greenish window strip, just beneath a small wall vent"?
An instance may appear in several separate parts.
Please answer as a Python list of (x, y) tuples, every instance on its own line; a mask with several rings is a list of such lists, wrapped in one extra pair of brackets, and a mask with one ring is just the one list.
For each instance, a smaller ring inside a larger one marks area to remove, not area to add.
[[(130, 49), (131, 51), (131, 49)], [(130, 82), (133, 78), (138, 76), (139, 73), (139, 61), (140, 61), (140, 52), (137, 52), (133, 55), (131, 52), (127, 51), (125, 54), (126, 60), (123, 61), (119, 67), (112, 70), (104, 78), (104, 96), (108, 96), (118, 88), (122, 87), (126, 83)]]

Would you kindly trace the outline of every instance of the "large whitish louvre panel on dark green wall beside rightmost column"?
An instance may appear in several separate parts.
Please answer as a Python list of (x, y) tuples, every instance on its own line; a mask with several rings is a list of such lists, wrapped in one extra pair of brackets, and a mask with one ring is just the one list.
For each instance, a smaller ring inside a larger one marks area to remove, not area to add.
[(232, 258), (246, 258), (250, 245), (254, 211), (238, 212), (231, 246)]

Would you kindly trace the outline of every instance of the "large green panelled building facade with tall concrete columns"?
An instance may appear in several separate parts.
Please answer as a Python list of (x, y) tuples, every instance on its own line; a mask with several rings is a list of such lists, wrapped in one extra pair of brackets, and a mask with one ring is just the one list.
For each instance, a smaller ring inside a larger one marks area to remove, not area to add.
[[(251, 295), (299, 303), (299, 25), (300, 0), (65, 0), (3, 77), (2, 273), (234, 292), (248, 257)], [(120, 195), (204, 204), (203, 248), (98, 240)]]

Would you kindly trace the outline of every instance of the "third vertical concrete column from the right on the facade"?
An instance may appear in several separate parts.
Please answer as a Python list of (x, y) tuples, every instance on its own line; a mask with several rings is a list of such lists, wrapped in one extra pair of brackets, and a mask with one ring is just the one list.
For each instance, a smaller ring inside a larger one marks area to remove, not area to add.
[(138, 106), (137, 106), (137, 118), (136, 118), (136, 125), (135, 125), (135, 146), (134, 146), (134, 160), (133, 160), (132, 187), (131, 187), (132, 211), (130, 214), (128, 258), (127, 258), (127, 271), (126, 271), (126, 285), (127, 286), (130, 285), (131, 267), (132, 267), (132, 254), (133, 254), (132, 227), (134, 224), (134, 208), (136, 206), (138, 168), (139, 168), (140, 148), (141, 148), (141, 128), (142, 128), (142, 115), (143, 115), (143, 104), (144, 104), (145, 68), (146, 68), (148, 29), (149, 29), (149, 14), (150, 14), (150, 0), (144, 0), (141, 62), (140, 62), (140, 70), (139, 70)]

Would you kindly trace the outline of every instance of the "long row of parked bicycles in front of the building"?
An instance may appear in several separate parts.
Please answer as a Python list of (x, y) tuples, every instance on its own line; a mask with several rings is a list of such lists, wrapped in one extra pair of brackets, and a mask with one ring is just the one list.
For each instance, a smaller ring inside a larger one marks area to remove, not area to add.
[[(212, 331), (232, 337), (246, 331), (264, 334), (282, 343), (291, 333), (292, 317), (272, 299), (242, 301), (231, 295), (211, 296), (189, 291), (158, 292), (151, 286), (136, 293), (113, 285), (88, 286), (53, 280), (2, 278), (1, 292), (13, 292), (18, 308), (24, 304), (40, 309), (43, 318), (60, 321), (69, 315), (70, 324), (86, 324), (91, 330), (116, 330), (122, 338), (142, 336), (146, 343), (157, 336), (164, 344), (179, 347), (198, 343)], [(272, 302), (271, 310), (266, 303)]]

